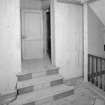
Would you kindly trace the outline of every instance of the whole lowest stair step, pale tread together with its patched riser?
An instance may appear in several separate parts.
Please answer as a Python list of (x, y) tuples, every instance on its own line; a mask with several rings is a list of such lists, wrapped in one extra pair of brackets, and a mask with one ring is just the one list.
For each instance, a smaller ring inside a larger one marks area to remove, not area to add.
[(74, 94), (73, 86), (59, 85), (47, 89), (34, 91), (28, 94), (19, 95), (10, 105), (40, 105), (56, 101)]

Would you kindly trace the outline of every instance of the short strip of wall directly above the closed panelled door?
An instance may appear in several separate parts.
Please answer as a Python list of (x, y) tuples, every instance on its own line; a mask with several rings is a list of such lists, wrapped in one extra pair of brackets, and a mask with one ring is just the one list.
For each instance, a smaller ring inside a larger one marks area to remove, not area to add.
[(40, 0), (20, 0), (20, 1), (21, 1), (21, 9), (40, 10), (42, 8)]

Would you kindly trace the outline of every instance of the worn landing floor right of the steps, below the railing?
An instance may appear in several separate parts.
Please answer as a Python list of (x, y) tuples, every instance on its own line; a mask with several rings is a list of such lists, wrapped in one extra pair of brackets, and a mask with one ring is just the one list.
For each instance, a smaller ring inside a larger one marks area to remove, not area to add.
[(49, 102), (43, 105), (105, 105), (105, 100), (93, 90), (81, 84), (75, 87), (73, 96), (65, 97), (58, 101)]

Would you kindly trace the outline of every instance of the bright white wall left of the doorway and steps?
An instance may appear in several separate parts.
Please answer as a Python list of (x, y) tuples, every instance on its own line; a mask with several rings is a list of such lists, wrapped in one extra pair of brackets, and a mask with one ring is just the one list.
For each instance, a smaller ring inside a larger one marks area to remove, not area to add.
[(20, 71), (19, 0), (0, 0), (0, 93), (16, 86)]

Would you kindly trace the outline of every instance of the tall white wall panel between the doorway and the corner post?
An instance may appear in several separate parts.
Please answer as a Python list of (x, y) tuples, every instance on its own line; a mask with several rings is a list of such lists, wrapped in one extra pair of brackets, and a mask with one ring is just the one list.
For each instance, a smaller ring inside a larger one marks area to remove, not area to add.
[(55, 61), (65, 79), (82, 75), (82, 7), (55, 0)]

